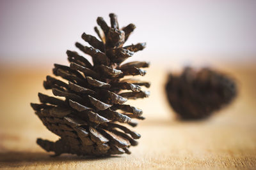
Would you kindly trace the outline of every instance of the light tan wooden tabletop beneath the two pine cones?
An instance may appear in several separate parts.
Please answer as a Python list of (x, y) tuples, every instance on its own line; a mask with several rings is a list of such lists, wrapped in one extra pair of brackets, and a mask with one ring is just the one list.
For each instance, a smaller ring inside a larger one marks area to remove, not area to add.
[[(30, 108), (44, 92), (50, 68), (0, 69), (0, 167), (3, 169), (256, 169), (256, 68), (223, 66), (239, 85), (239, 96), (227, 108), (203, 121), (181, 122), (168, 106), (163, 85), (166, 70), (148, 69), (151, 96), (134, 101), (146, 120), (136, 132), (140, 144), (131, 155), (107, 158), (50, 157), (36, 138), (58, 137), (42, 125)], [(51, 94), (46, 92), (46, 94)]]

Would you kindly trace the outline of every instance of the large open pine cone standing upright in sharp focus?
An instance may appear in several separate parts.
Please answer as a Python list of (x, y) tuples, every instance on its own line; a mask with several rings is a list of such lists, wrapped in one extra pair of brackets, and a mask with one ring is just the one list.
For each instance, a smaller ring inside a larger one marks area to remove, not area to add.
[[(102, 17), (97, 24), (104, 34), (95, 27), (99, 39), (83, 33), (82, 38), (91, 46), (76, 43), (77, 48), (92, 57), (93, 64), (77, 52), (67, 50), (70, 66), (54, 64), (53, 74), (68, 81), (61, 81), (51, 76), (44, 81), (45, 89), (52, 89), (54, 96), (38, 93), (41, 104), (31, 103), (36, 115), (43, 124), (60, 136), (56, 142), (37, 139), (38, 145), (47, 152), (74, 153), (77, 155), (112, 155), (130, 153), (129, 146), (136, 146), (135, 139), (140, 134), (129, 130), (137, 123), (132, 118), (143, 120), (142, 110), (124, 104), (127, 99), (148, 97), (150, 83), (136, 79), (124, 79), (125, 76), (144, 76), (148, 62), (128, 62), (134, 52), (145, 48), (146, 43), (124, 46), (125, 41), (135, 29), (129, 24), (119, 29), (116, 15), (109, 14), (111, 27)], [(124, 92), (127, 91), (127, 92)]]

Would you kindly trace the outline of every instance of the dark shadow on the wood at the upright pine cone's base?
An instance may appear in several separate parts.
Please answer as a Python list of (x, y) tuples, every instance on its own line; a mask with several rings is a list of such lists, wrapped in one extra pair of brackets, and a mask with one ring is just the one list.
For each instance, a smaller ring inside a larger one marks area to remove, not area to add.
[[(111, 156), (111, 158), (118, 156)], [(94, 161), (108, 159), (109, 157), (77, 157), (77, 155), (63, 154), (59, 157), (51, 157), (45, 152), (0, 152), (0, 167), (20, 167), (29, 165), (68, 163), (76, 161)]]

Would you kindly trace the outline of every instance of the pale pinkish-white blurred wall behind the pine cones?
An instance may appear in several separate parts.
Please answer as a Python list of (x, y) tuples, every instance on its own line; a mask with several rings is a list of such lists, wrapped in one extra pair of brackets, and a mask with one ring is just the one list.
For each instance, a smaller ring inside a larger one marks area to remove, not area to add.
[[(49, 66), (66, 62), (81, 34), (95, 35), (97, 17), (137, 26), (127, 44), (147, 42), (136, 56), (170, 64), (248, 63), (256, 54), (256, 2), (193, 1), (0, 1), (3, 64)], [(83, 41), (82, 41), (83, 42)], [(162, 62), (170, 60), (169, 63)]]

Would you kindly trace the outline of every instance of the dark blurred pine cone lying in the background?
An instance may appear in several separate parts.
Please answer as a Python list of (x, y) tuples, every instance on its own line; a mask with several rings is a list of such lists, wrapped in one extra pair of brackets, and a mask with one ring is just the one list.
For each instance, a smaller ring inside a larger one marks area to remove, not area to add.
[(165, 89), (170, 105), (183, 119), (209, 117), (237, 94), (234, 80), (209, 68), (186, 67), (181, 75), (170, 74)]

